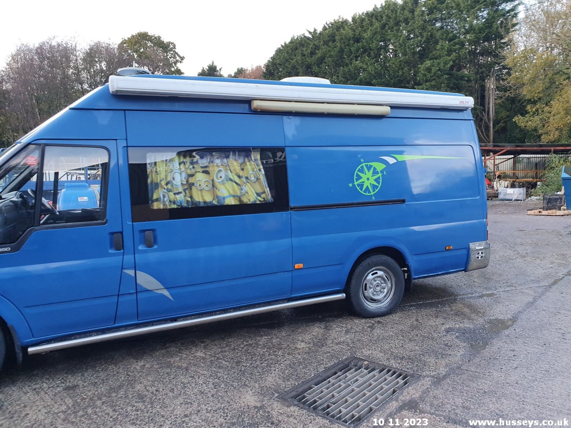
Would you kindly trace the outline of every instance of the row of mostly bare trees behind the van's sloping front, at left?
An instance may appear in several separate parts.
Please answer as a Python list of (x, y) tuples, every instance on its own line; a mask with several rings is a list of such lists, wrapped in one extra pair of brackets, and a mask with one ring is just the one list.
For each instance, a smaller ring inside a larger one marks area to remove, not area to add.
[(156, 74), (182, 74), (172, 42), (137, 33), (119, 45), (51, 38), (20, 45), (0, 70), (0, 147), (37, 127), (135, 61)]

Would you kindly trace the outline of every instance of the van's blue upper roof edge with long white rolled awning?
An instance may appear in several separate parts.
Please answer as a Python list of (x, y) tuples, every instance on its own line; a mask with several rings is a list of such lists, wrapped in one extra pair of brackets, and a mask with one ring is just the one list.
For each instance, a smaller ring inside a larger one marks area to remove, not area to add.
[[(126, 89), (127, 93), (114, 94), (114, 86), (115, 90)], [(175, 91), (182, 93), (164, 92), (165, 88), (169, 91), (174, 88)], [(131, 90), (132, 93), (128, 92)], [(159, 94), (153, 92), (156, 90)], [(111, 76), (110, 83), (84, 95), (30, 131), (18, 142), (31, 142), (42, 138), (125, 138), (124, 122), (122, 122), (124, 115), (119, 114), (120, 111), (260, 114), (251, 107), (251, 100), (258, 99), (386, 105), (391, 106), (388, 117), (395, 119), (474, 120), (470, 111), (473, 99), (449, 92), (199, 76)], [(330, 117), (335, 120), (336, 115), (332, 114)]]

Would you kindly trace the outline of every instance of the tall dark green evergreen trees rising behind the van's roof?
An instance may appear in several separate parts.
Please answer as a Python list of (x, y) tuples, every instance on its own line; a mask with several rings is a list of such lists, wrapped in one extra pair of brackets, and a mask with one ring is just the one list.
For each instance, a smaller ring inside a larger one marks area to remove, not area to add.
[(387, 0), (292, 37), (268, 60), (264, 77), (461, 92), (475, 98), (485, 142), (486, 84), (504, 74), (502, 55), (516, 14), (513, 0)]

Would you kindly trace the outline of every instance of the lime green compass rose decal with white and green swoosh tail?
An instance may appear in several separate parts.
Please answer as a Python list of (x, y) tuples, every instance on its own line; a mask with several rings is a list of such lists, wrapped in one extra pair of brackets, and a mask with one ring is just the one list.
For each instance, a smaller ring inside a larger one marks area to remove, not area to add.
[(383, 175), (387, 171), (383, 171), (388, 165), (399, 161), (407, 160), (417, 160), (417, 159), (464, 159), (455, 158), (452, 156), (423, 156), (423, 155), (389, 155), (389, 156), (379, 156), (379, 159), (383, 159), (387, 164), (380, 162), (365, 162), (361, 159), (361, 164), (355, 169), (355, 176), (353, 178), (353, 183), (349, 183), (350, 187), (355, 186), (355, 188), (363, 195), (371, 196), (375, 199), (375, 193), (381, 188), (381, 183), (383, 182)]

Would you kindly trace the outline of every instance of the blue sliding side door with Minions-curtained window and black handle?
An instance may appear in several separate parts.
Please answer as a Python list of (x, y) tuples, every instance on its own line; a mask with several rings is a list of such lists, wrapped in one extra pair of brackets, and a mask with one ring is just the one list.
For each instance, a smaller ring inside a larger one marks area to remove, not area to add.
[(291, 294), (277, 116), (127, 112), (138, 317)]

